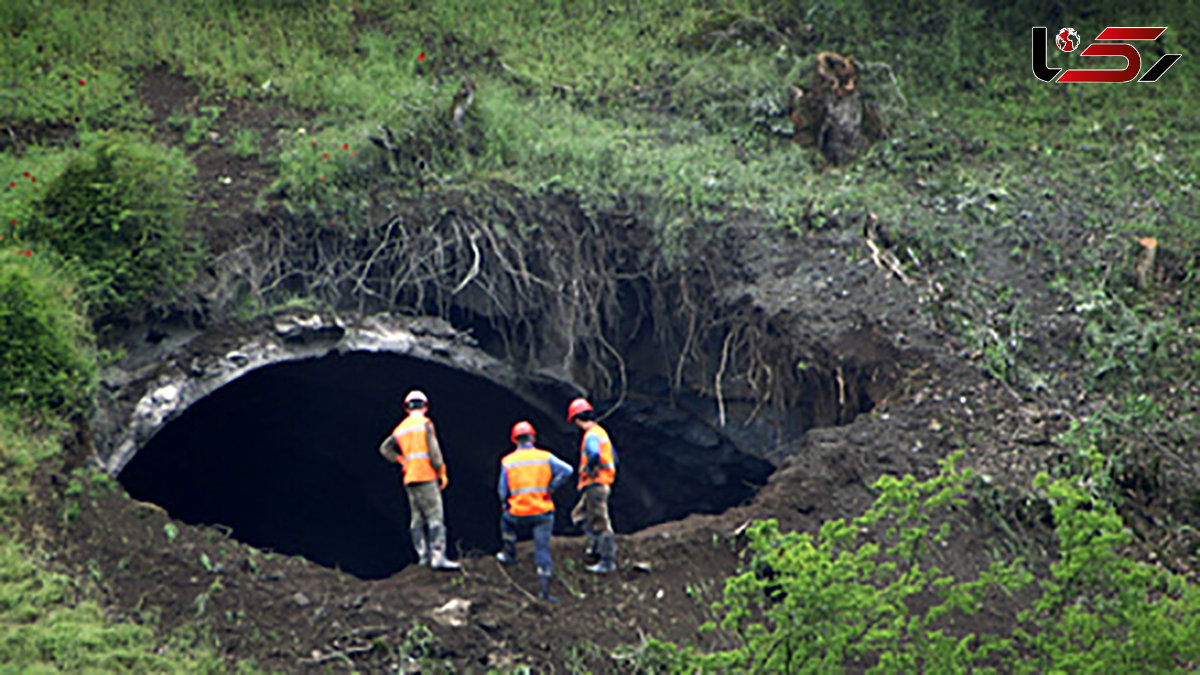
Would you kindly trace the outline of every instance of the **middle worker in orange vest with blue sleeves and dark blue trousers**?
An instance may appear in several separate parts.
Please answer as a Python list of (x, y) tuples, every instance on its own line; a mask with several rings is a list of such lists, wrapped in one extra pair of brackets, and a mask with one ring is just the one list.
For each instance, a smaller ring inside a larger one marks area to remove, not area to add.
[(517, 531), (533, 530), (534, 563), (538, 566), (538, 597), (558, 602), (550, 595), (554, 561), (550, 557), (550, 534), (554, 528), (554, 500), (551, 492), (575, 470), (547, 450), (535, 448), (538, 432), (528, 422), (512, 425), (510, 438), (516, 449), (500, 460), (500, 552), (496, 560), (512, 565), (517, 556)]

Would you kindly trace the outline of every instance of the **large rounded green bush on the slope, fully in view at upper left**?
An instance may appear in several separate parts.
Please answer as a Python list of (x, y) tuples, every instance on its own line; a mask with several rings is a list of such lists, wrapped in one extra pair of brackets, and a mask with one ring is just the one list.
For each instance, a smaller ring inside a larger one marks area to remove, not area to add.
[(186, 231), (193, 175), (178, 149), (97, 137), (49, 183), (29, 235), (78, 274), (98, 322), (169, 300), (199, 262)]

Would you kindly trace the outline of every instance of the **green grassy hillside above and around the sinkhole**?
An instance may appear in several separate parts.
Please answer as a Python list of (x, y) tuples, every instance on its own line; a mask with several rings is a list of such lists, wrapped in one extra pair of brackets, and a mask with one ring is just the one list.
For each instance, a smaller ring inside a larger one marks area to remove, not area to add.
[[(803, 233), (875, 213), (930, 288), (931, 317), (1007, 387), (1045, 390), (1066, 370), (1033, 339), (1052, 307), (1044, 298), (1078, 313), (1084, 330), (1066, 351), (1088, 402), (1063, 474), (1092, 476), (1114, 502), (1139, 488), (1112, 477), (1145, 474), (1174, 490), (1176, 514), (1196, 514), (1182, 503), (1194, 488), (1177, 484), (1200, 400), (1200, 14), (1189, 2), (492, 5), (0, 6), (2, 518), (30, 508), (38, 462), (61, 461), (65, 420), (89, 410), (113, 356), (95, 335), (169, 311), (206, 264), (211, 232), (190, 220), (220, 190), (197, 179), (205, 153), (252, 161), (262, 208), (350, 227), (371, 227), (380, 195), (493, 181), (572, 193), (590, 213), (654, 222), (662, 264), (680, 232), (733, 214)], [(1168, 25), (1142, 54), (1183, 58), (1154, 84), (1044, 84), (1030, 72), (1033, 25), (1073, 25), (1085, 41), (1105, 25)], [(787, 84), (827, 49), (858, 60), (890, 127), (842, 168), (784, 138)], [(149, 72), (196, 90), (166, 132)], [(452, 109), (467, 89), (460, 129)], [(235, 115), (246, 108), (274, 121)], [(382, 126), (402, 153), (370, 141)], [(1159, 270), (1150, 283), (1138, 269), (1146, 238)], [(1034, 258), (1057, 263), (1042, 299), (1014, 271)], [(36, 544), (4, 532), (0, 661), (212, 667), (203, 650), (162, 661), (166, 638), (106, 620), (85, 580), (50, 572)]]

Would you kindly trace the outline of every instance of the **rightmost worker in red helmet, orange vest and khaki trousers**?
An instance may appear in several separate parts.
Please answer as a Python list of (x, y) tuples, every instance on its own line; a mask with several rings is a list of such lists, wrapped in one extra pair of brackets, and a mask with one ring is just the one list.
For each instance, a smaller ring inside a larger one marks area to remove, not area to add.
[(575, 399), (566, 407), (566, 422), (583, 430), (580, 443), (580, 503), (571, 509), (571, 522), (583, 526), (588, 536), (588, 557), (600, 562), (588, 572), (607, 574), (617, 569), (617, 537), (608, 519), (608, 496), (617, 479), (617, 450), (602, 426), (596, 424), (595, 411), (587, 399)]

